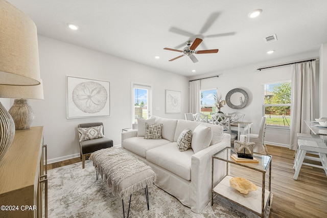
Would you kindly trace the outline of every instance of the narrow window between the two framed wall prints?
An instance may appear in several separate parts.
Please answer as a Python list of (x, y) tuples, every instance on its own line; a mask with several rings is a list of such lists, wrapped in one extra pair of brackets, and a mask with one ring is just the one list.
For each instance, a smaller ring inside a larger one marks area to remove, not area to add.
[(151, 110), (151, 86), (132, 83), (132, 123), (148, 119)]

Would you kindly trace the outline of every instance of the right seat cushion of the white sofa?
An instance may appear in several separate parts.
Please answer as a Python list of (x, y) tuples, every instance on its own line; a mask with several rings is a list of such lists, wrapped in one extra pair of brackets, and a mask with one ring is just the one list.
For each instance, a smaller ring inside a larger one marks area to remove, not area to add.
[(147, 161), (190, 181), (192, 155), (194, 155), (192, 149), (180, 152), (177, 142), (172, 142), (148, 150)]

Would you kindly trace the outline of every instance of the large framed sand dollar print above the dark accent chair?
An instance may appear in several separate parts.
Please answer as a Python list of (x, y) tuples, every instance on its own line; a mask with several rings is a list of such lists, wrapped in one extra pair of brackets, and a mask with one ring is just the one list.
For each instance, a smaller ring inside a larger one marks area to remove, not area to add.
[(67, 76), (67, 119), (110, 116), (110, 82)]

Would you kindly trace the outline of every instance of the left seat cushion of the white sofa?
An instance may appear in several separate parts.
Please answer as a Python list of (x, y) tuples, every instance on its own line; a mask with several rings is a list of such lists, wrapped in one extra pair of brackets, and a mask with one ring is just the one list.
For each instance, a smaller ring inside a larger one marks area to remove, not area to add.
[(147, 150), (155, 148), (170, 141), (166, 139), (144, 139), (144, 137), (131, 137), (122, 142), (122, 147), (143, 158), (146, 158)]

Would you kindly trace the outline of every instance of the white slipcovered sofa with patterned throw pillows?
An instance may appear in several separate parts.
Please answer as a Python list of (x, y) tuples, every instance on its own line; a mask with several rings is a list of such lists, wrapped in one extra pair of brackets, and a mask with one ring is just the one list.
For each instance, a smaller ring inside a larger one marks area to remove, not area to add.
[[(155, 184), (174, 195), (183, 205), (200, 213), (211, 201), (212, 155), (230, 146), (230, 135), (224, 134), (220, 125), (188, 120), (166, 119), (152, 116), (154, 123), (162, 123), (162, 139), (144, 139), (137, 130), (122, 133), (122, 148), (139, 160), (147, 163), (157, 175)], [(211, 145), (196, 152), (193, 149), (179, 151), (177, 139), (181, 132), (192, 131), (198, 125), (211, 127)], [(140, 128), (138, 124), (138, 128)], [(215, 161), (215, 164), (218, 164)], [(214, 184), (226, 172), (225, 163), (219, 163), (219, 172), (214, 174)], [(215, 168), (218, 167), (215, 165)]]

